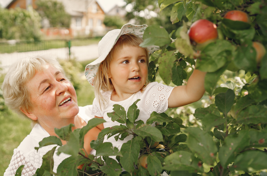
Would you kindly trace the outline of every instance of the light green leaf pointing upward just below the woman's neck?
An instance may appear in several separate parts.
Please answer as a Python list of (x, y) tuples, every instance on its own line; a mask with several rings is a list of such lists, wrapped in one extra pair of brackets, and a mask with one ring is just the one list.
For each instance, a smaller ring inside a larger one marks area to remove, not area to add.
[(66, 145), (58, 148), (57, 154), (59, 155), (61, 153), (64, 153), (69, 155), (77, 155), (79, 149), (80, 149), (79, 140), (73, 133), (70, 133), (69, 141), (67, 142)]

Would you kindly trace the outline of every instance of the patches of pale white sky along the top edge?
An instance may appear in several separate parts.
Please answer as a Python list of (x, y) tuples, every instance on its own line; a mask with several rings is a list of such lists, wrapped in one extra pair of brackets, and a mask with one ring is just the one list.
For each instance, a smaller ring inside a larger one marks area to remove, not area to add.
[[(11, 1), (12, 0), (0, 0), (0, 4), (2, 7), (5, 7)], [(108, 12), (116, 4), (119, 6), (123, 6), (125, 4), (123, 0), (97, 0), (97, 2), (105, 12)]]

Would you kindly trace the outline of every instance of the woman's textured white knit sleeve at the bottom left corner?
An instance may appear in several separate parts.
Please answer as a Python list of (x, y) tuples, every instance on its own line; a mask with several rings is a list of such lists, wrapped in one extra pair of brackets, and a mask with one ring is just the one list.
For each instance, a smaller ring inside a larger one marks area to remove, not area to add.
[(17, 169), (21, 165), (24, 165), (22, 176), (32, 176), (35, 174), (36, 169), (41, 167), (42, 162), (42, 156), (37, 152), (36, 154), (24, 155), (18, 149), (14, 149), (14, 154), (8, 168), (5, 170), (4, 176), (15, 176)]

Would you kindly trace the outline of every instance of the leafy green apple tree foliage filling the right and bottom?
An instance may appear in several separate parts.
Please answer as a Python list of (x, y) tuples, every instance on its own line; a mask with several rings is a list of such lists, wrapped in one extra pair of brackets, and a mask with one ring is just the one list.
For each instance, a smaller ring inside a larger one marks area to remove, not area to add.
[[(60, 164), (57, 173), (70, 176), (76, 176), (77, 171), (93, 176), (159, 176), (163, 172), (170, 176), (266, 175), (267, 54), (257, 64), (252, 42), (267, 45), (267, 3), (261, 0), (158, 0), (158, 4), (161, 10), (172, 7), (172, 22), (181, 21), (184, 16), (188, 22), (183, 21), (183, 26), (176, 30), (176, 40), (171, 40), (172, 34), (168, 35), (159, 26), (149, 26), (145, 30), (141, 46), (160, 46), (160, 50), (150, 58), (149, 79), (155, 81), (159, 72), (166, 84), (181, 86), (186, 84), (183, 80), (187, 78), (184, 73), (187, 65), (207, 72), (205, 89), (211, 102), (194, 111), (196, 121), (201, 123), (184, 126), (180, 118), (156, 112), (146, 122), (137, 121), (138, 100), (127, 112), (120, 105), (114, 105), (108, 116), (121, 125), (102, 130), (98, 139), (90, 143), (91, 148), (96, 150), (95, 156), (78, 153), (85, 134), (82, 131), (86, 130), (68, 131), (69, 141), (58, 151), (72, 156)], [(251, 24), (225, 21), (223, 15), (234, 9), (248, 13)], [(199, 19), (216, 24), (220, 35), (219, 39), (202, 47), (196, 66), (193, 60), (196, 51), (187, 30), (192, 22)], [(238, 76), (225, 80), (219, 86), (218, 81), (229, 74), (227, 69), (232, 70), (230, 65), (236, 67), (238, 72), (235, 74)], [(99, 123), (101, 119), (92, 119), (85, 129)], [(156, 126), (151, 125), (154, 123)], [(66, 131), (61, 129), (58, 132)], [(119, 151), (111, 143), (103, 143), (105, 135), (114, 136), (116, 140), (131, 135), (132, 139), (124, 143)], [(53, 141), (51, 138), (49, 142)], [(150, 148), (155, 142), (159, 145)], [(114, 157), (108, 157), (114, 155), (118, 163)], [(146, 168), (138, 163), (142, 155), (147, 156)], [(53, 160), (52, 157), (50, 159)], [(80, 164), (84, 164), (83, 169), (77, 170)], [(52, 166), (47, 162), (43, 165), (41, 168), (49, 167), (47, 175), (53, 174), (50, 172)], [(74, 167), (70, 168), (70, 165)], [(121, 172), (121, 168), (125, 171)], [(38, 170), (37, 175), (40, 173), (41, 170)]]

